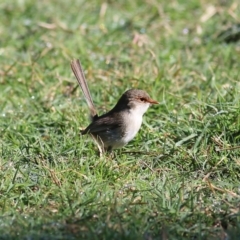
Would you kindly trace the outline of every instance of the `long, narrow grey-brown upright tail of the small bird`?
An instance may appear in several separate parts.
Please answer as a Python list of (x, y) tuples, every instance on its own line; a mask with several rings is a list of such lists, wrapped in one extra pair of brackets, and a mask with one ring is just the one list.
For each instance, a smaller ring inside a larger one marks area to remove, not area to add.
[(94, 107), (93, 101), (92, 101), (92, 97), (91, 94), (89, 92), (88, 89), (88, 85), (87, 85), (87, 81), (85, 79), (83, 70), (82, 70), (82, 66), (81, 63), (79, 62), (79, 60), (72, 60), (71, 62), (71, 68), (72, 71), (76, 77), (76, 79), (78, 80), (78, 83), (83, 91), (83, 94), (85, 96), (85, 99), (87, 101), (87, 105), (89, 107), (90, 110), (90, 115), (91, 115), (91, 119), (93, 120), (94, 118), (97, 117), (97, 111)]

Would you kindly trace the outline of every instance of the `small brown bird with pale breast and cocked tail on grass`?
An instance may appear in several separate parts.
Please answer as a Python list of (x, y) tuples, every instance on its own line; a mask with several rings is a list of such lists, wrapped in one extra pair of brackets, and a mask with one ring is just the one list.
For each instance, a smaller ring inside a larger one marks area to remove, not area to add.
[(112, 110), (98, 116), (79, 60), (73, 60), (71, 68), (82, 88), (92, 120), (81, 133), (93, 136), (100, 154), (126, 145), (139, 131), (143, 114), (151, 104), (158, 102), (151, 99), (143, 90), (130, 89), (121, 96)]

